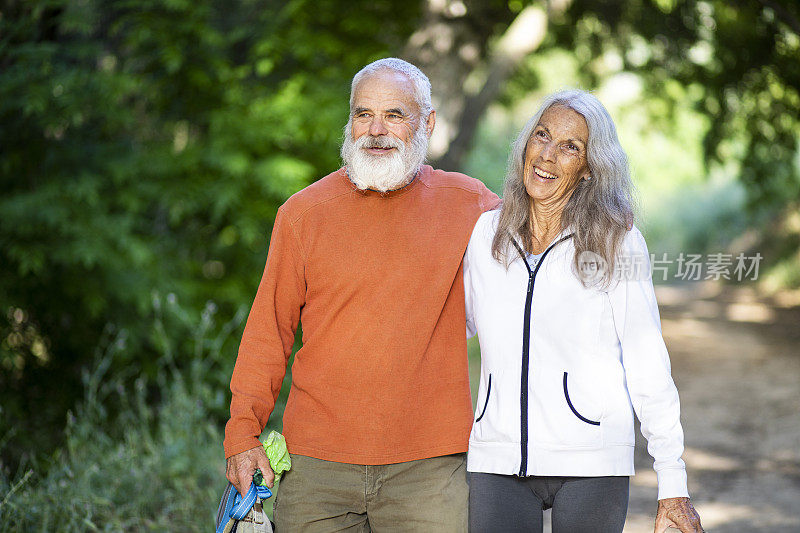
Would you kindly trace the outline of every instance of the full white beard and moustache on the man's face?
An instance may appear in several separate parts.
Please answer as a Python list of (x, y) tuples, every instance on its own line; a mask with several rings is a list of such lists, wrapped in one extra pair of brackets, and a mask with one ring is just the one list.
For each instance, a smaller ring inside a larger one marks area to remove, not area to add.
[[(384, 155), (371, 154), (365, 149), (389, 147), (395, 150)], [(348, 121), (345, 126), (342, 160), (350, 181), (361, 190), (387, 192), (403, 187), (414, 178), (427, 154), (428, 135), (424, 124), (420, 124), (408, 145), (389, 135), (367, 134), (353, 140), (351, 123)]]

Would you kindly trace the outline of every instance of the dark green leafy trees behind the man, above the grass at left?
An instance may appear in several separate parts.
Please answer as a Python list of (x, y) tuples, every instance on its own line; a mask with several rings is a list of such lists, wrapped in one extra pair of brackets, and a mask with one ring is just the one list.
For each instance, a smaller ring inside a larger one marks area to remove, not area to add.
[[(113, 366), (154, 376), (154, 291), (195, 310), (213, 298), (223, 316), (252, 301), (278, 206), (339, 165), (350, 77), (397, 49), (418, 13), (307, 0), (4, 4), (0, 404), (17, 428), (6, 461), (57, 445), (86, 347), (109, 324), (130, 346)], [(229, 362), (234, 350), (223, 347)]]

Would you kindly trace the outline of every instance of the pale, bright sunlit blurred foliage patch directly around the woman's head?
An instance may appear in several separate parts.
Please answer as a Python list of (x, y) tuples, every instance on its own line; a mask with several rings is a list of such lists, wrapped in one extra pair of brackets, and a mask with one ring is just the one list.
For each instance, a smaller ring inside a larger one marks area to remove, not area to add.
[[(478, 130), (475, 148), (467, 160), (468, 173), (481, 176), (493, 190), (502, 189), (511, 141), (538, 109), (541, 99), (565, 86), (581, 86), (580, 62), (566, 51), (553, 48), (526, 60), (525, 75), (506, 87), (503, 107), (487, 114)], [(536, 88), (523, 91), (525, 79)], [(680, 84), (670, 85), (678, 102), (671, 116), (668, 107), (642, 90), (632, 73), (611, 72), (585, 86), (606, 105), (617, 126), (636, 184), (639, 199), (637, 225), (645, 233), (650, 251), (714, 253), (726, 250), (753, 223), (744, 213), (745, 188), (735, 178), (738, 165), (715, 168), (703, 163), (702, 140), (710, 120), (693, 107), (697, 95)], [(515, 94), (516, 91), (520, 91)], [(661, 107), (659, 109), (659, 107)]]

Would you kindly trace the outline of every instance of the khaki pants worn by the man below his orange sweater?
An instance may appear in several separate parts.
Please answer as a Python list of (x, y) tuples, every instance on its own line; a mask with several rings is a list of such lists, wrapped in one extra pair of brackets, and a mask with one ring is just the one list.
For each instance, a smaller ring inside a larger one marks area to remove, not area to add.
[(275, 530), (467, 531), (465, 454), (390, 465), (292, 455), (275, 497)]

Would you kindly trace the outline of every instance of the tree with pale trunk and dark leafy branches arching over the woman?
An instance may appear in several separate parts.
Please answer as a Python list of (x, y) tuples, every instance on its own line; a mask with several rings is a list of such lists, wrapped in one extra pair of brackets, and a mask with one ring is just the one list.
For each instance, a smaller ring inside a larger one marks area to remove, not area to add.
[[(421, 65), (440, 110), (432, 155), (462, 168), (489, 104), (537, 88), (526, 57), (555, 48), (581, 62), (584, 85), (607, 75), (604, 57), (637, 74), (654, 120), (690, 91), (708, 116), (709, 164), (739, 163), (754, 210), (800, 197), (800, 7), (790, 0), (559, 0), (423, 2), (405, 54)], [(507, 82), (507, 83), (506, 83)], [(664, 104), (664, 105), (661, 105)]]

